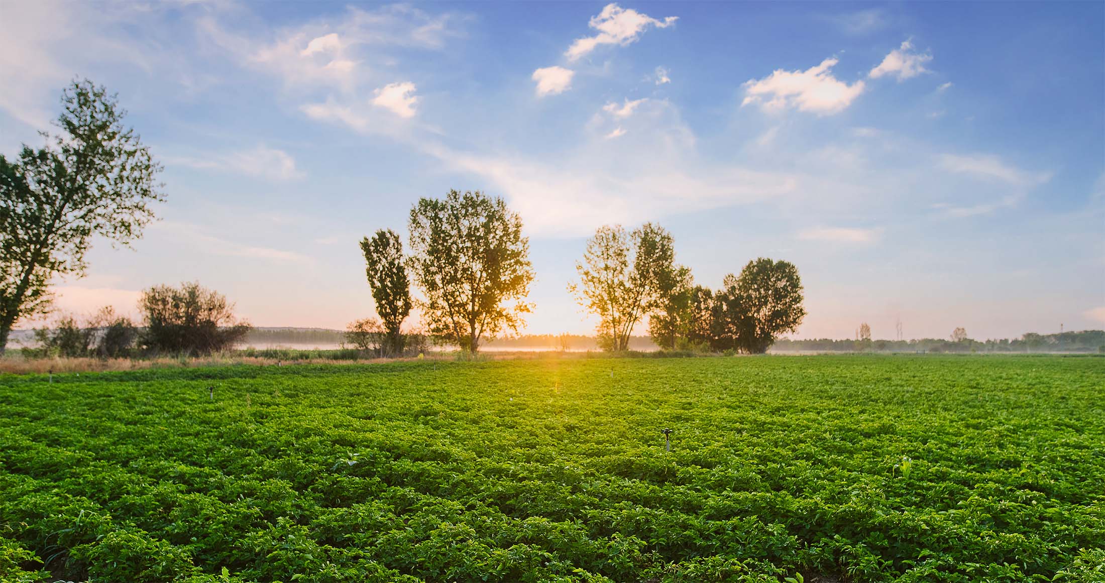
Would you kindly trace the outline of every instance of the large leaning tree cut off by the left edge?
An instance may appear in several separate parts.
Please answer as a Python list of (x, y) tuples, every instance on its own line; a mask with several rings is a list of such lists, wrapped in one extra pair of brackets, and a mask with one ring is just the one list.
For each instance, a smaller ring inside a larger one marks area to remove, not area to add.
[(54, 276), (84, 274), (94, 236), (127, 245), (154, 220), (161, 167), (125, 116), (107, 89), (75, 81), (45, 146), (0, 155), (0, 353), (17, 321), (49, 310)]

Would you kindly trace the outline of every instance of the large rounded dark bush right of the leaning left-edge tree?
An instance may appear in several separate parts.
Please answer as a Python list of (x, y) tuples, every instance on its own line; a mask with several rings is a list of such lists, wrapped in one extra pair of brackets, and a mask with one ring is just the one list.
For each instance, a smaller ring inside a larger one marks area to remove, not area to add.
[(151, 287), (143, 292), (138, 306), (146, 324), (143, 343), (155, 352), (219, 352), (240, 342), (251, 328), (234, 317), (234, 305), (225, 296), (196, 282)]

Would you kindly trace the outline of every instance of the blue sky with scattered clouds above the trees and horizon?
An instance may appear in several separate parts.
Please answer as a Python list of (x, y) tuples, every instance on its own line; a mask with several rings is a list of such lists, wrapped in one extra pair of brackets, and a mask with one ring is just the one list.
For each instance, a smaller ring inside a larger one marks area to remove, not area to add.
[(59, 282), (78, 312), (198, 279), (344, 327), (360, 237), (455, 188), (522, 214), (528, 332), (590, 331), (586, 239), (644, 221), (712, 287), (797, 264), (799, 337), (1101, 328), (1103, 31), (1099, 2), (10, 2), (0, 151), (81, 75), (165, 166), (162, 220)]

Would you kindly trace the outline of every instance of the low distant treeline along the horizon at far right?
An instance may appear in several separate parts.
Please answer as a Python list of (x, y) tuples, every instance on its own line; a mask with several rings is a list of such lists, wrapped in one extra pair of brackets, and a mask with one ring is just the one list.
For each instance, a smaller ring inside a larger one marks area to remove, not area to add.
[(1105, 352), (1105, 330), (1083, 330), (1040, 335), (1029, 332), (1015, 339), (960, 341), (939, 338), (917, 340), (814, 340), (779, 339), (772, 352)]

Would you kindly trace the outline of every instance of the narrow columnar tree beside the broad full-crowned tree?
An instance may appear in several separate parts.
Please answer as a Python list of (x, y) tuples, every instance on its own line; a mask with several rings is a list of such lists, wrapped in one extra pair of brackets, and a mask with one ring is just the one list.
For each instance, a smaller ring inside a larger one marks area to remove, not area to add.
[(411, 312), (412, 305), (403, 244), (394, 231), (381, 229), (371, 239), (361, 240), (360, 250), (368, 264), (365, 273), (376, 300), (376, 312), (383, 322), (383, 351), (400, 354), (403, 351), (400, 327)]

